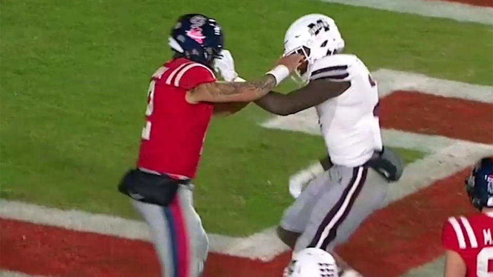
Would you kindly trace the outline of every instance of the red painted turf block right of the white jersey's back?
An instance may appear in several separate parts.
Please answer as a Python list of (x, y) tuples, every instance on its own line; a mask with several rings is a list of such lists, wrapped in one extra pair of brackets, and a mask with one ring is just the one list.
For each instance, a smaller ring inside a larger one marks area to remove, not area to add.
[(493, 144), (490, 103), (400, 90), (383, 98), (381, 114), (383, 128)]

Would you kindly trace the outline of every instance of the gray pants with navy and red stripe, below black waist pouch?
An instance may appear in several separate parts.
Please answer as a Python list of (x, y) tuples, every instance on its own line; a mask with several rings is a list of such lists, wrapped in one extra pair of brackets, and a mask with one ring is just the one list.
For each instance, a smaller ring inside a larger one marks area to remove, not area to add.
[(131, 200), (151, 229), (163, 277), (202, 274), (208, 240), (193, 207), (192, 190), (192, 185), (179, 185), (167, 207)]

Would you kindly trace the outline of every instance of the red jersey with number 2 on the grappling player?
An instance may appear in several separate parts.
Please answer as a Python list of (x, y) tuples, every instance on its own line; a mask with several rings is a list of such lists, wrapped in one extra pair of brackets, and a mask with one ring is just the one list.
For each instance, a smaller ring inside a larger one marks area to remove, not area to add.
[(180, 179), (195, 177), (213, 105), (189, 104), (185, 94), (199, 84), (215, 81), (211, 69), (185, 58), (172, 60), (153, 74), (139, 168)]

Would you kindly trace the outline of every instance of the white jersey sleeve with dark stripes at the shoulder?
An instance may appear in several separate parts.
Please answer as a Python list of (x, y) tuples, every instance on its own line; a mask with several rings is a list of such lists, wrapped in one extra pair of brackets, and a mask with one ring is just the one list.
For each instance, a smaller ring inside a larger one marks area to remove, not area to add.
[(310, 74), (310, 81), (329, 79), (334, 82), (351, 81), (351, 67), (357, 61), (355, 55), (335, 54), (317, 60)]

